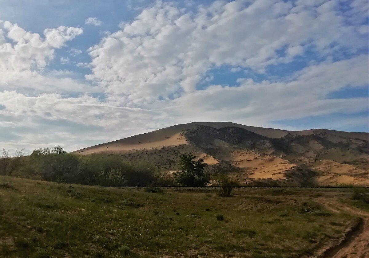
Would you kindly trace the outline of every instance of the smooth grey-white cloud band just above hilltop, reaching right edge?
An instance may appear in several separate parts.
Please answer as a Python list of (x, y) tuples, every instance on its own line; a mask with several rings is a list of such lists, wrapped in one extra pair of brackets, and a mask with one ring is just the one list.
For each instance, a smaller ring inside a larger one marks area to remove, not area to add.
[(368, 56), (303, 69), (285, 81), (255, 83), (244, 79), (239, 87), (211, 86), (171, 101), (170, 110), (184, 120), (229, 120), (268, 125), (270, 121), (335, 113), (352, 114), (368, 108), (367, 98), (326, 99), (345, 87), (368, 83)]

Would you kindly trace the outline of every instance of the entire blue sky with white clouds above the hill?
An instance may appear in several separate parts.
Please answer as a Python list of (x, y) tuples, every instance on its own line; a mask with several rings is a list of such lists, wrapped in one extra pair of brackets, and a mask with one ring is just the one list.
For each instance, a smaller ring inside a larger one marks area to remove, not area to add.
[(0, 0), (0, 149), (229, 121), (368, 132), (368, 1)]

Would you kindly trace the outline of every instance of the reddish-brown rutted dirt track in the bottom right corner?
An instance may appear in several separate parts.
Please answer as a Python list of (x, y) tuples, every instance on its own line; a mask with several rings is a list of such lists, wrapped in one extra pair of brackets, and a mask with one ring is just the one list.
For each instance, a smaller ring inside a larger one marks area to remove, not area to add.
[(351, 236), (351, 241), (348, 241), (342, 248), (333, 254), (328, 254), (325, 257), (329, 258), (369, 258), (369, 213), (359, 209), (346, 206), (336, 201), (328, 201), (320, 199), (319, 203), (323, 204), (332, 212), (344, 210), (363, 218), (362, 227), (356, 234)]

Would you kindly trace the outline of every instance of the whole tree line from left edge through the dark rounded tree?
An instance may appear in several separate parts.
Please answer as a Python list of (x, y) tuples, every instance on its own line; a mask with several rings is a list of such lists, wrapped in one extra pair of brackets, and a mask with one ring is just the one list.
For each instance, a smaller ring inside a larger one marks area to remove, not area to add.
[(0, 175), (15, 175), (68, 184), (102, 186), (206, 186), (210, 174), (207, 164), (193, 153), (180, 156), (179, 170), (172, 177), (146, 163), (130, 163), (119, 155), (76, 155), (60, 146), (32, 151), (25, 156), (23, 150), (10, 156), (2, 150)]

